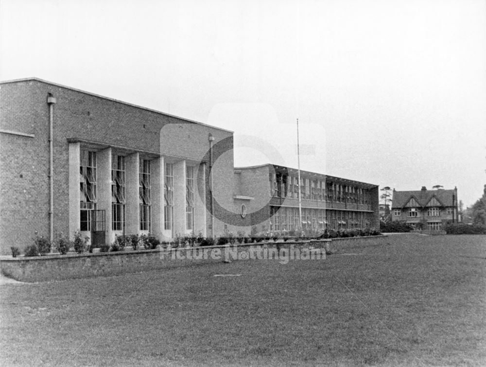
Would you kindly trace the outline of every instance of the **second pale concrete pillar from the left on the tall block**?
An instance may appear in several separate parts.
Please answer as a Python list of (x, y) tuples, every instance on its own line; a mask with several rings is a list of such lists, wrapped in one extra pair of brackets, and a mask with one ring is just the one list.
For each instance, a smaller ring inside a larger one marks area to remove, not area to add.
[[(97, 190), (98, 190), (98, 209), (105, 211), (106, 233), (105, 243), (111, 244), (111, 148), (106, 148), (96, 153), (97, 159)], [(79, 191), (79, 189), (78, 189)]]

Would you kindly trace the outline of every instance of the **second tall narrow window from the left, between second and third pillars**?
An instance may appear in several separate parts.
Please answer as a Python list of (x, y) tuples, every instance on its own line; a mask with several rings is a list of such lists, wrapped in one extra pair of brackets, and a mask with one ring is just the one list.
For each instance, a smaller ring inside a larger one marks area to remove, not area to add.
[(125, 228), (125, 157), (113, 155), (111, 161), (111, 229)]

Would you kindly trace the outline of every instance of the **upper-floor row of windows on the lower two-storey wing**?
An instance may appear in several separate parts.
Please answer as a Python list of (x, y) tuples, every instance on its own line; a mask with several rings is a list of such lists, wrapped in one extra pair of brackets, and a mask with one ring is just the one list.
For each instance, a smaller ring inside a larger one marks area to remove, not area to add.
[(333, 201), (338, 203), (370, 204), (369, 190), (358, 186), (343, 185), (324, 180), (312, 180), (297, 176), (270, 174), (270, 195), (274, 197), (306, 200)]

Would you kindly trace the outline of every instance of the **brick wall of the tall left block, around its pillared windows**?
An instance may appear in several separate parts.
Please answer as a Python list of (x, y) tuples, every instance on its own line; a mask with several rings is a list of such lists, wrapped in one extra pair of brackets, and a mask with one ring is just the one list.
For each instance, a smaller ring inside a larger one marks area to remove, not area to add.
[[(183, 160), (185, 164), (194, 166), (195, 172), (198, 172), (199, 162), (204, 161), (209, 149), (208, 134), (214, 137), (216, 143), (226, 139), (226, 148), (228, 145), (232, 148), (232, 132), (224, 129), (39, 79), (2, 82), (1, 254), (10, 253), (11, 245), (22, 248), (31, 244), (35, 231), (49, 237), (49, 93), (56, 99), (53, 105), (54, 232), (69, 233), (72, 236), (70, 232), (73, 228), (69, 227), (69, 218), (73, 213), (69, 207), (70, 204), (72, 206), (72, 200), (71, 203), (69, 201), (69, 144), (78, 143), (81, 150), (93, 150), (100, 155), (109, 148), (113, 153), (118, 152), (127, 157), (138, 153), (140, 157), (148, 159), (162, 156), (166, 157), (166, 161)], [(232, 150), (229, 153), (223, 155), (215, 167), (218, 179), (214, 180), (213, 192), (220, 197), (219, 201), (225, 207), (232, 208), (232, 192), (227, 191), (228, 185), (232, 185)], [(76, 172), (75, 167), (71, 176), (73, 172)], [(76, 178), (73, 182), (76, 185)], [(185, 185), (185, 182), (179, 184)], [(102, 183), (98, 186), (102, 187)], [(105, 190), (109, 190), (109, 186)], [(158, 191), (153, 192), (158, 192), (160, 197), (163, 195), (163, 186), (161, 190), (158, 188)], [(198, 192), (196, 187), (196, 201), (206, 211), (205, 195), (199, 198)], [(136, 195), (138, 200), (138, 191), (131, 194)], [(201, 209), (197, 210), (201, 215)], [(108, 222), (106, 227), (111, 226)], [(201, 227), (201, 223), (207, 220), (196, 222)], [(217, 223), (215, 230), (222, 231), (223, 227), (223, 224)], [(206, 229), (194, 228), (194, 231), (206, 233)]]

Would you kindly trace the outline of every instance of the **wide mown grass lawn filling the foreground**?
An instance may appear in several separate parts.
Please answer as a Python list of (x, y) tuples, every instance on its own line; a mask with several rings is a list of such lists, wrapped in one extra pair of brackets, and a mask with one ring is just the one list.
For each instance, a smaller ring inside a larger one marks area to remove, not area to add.
[[(215, 274), (241, 274), (214, 277)], [(486, 236), (0, 287), (0, 364), (486, 365)]]

